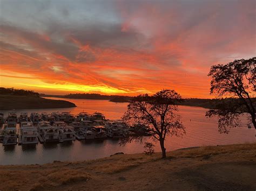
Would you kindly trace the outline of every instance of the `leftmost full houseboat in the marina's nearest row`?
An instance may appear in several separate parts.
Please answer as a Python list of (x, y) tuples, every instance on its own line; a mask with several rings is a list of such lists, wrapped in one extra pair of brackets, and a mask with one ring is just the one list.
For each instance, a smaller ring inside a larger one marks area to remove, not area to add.
[(3, 125), (3, 145), (16, 145), (17, 144), (17, 130), (16, 127), (9, 127), (8, 124)]

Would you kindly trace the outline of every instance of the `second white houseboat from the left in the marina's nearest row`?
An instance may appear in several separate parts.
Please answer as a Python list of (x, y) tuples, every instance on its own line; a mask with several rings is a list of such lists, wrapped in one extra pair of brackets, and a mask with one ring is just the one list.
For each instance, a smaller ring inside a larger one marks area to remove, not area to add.
[(19, 143), (25, 144), (37, 144), (38, 143), (37, 128), (33, 126), (32, 122), (21, 122), (21, 129), (19, 135)]

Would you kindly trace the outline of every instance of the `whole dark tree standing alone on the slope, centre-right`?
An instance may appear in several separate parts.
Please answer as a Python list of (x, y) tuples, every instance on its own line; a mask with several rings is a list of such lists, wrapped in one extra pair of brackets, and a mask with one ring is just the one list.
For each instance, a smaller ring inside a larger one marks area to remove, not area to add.
[(123, 120), (133, 127), (133, 133), (123, 139), (122, 143), (141, 140), (151, 136), (161, 146), (162, 157), (166, 157), (164, 141), (166, 136), (182, 136), (185, 127), (177, 115), (177, 102), (181, 96), (174, 90), (161, 90), (153, 96), (139, 95), (127, 106)]

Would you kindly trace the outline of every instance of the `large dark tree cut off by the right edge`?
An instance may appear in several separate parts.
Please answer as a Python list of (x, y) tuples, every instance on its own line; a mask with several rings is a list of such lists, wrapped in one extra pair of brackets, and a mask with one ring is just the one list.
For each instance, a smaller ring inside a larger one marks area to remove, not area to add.
[(211, 67), (208, 74), (212, 77), (210, 93), (221, 99), (216, 108), (206, 112), (206, 116), (219, 117), (220, 133), (228, 133), (231, 128), (239, 126), (242, 114), (250, 116), (248, 125), (253, 124), (256, 130), (255, 62), (256, 57)]

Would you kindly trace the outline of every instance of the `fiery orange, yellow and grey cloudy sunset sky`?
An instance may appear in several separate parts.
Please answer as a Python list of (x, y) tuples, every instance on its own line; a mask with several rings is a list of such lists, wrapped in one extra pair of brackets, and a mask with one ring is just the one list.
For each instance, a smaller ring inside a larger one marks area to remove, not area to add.
[(212, 65), (256, 55), (256, 1), (0, 0), (0, 85), (211, 97)]

